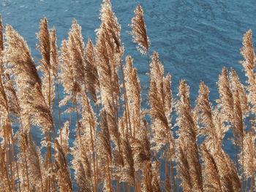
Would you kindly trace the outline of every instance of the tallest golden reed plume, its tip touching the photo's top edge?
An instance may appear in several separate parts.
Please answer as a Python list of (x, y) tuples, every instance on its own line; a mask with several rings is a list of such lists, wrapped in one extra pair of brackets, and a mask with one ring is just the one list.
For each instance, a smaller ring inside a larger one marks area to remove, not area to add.
[(104, 1), (100, 12), (102, 23), (97, 30), (96, 52), (102, 104), (106, 112), (110, 111), (109, 104), (117, 112), (120, 93), (117, 71), (124, 52), (120, 39), (121, 26), (112, 11), (110, 1)]

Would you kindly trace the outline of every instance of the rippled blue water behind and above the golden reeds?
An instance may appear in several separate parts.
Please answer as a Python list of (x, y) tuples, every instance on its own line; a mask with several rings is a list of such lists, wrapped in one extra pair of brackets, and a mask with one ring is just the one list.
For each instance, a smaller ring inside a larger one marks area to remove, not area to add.
[[(72, 19), (78, 20), (86, 41), (95, 42), (96, 28), (99, 28), (99, 0), (0, 0), (0, 14), (4, 25), (9, 23), (26, 39), (31, 52), (40, 58), (35, 49), (39, 20), (47, 17), (50, 28), (56, 27), (58, 45), (67, 38)], [(233, 67), (244, 82), (239, 60), (243, 34), (252, 29), (256, 42), (255, 0), (113, 0), (113, 10), (121, 23), (121, 39), (125, 45), (124, 55), (135, 58), (142, 85), (148, 84), (146, 56), (135, 49), (132, 37), (126, 33), (134, 16), (133, 9), (141, 4), (145, 13), (151, 53), (157, 51), (165, 72), (172, 75), (173, 94), (178, 82), (187, 80), (190, 96), (195, 101), (198, 85), (203, 80), (210, 88), (211, 101), (218, 98), (217, 78), (223, 66)], [(143, 104), (146, 90), (143, 91)], [(227, 142), (225, 149), (233, 156), (233, 148)]]

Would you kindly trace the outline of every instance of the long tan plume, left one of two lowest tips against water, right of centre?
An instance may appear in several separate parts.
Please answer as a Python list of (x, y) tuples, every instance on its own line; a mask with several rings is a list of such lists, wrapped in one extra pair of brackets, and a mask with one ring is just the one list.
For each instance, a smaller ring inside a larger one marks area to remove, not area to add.
[[(203, 191), (203, 177), (197, 148), (197, 127), (189, 101), (189, 86), (185, 80), (181, 80), (178, 87), (180, 100), (177, 108), (178, 142), (184, 142), (182, 150), (186, 150), (187, 162), (189, 164), (189, 175), (192, 182), (192, 191)], [(180, 144), (181, 145), (181, 144)], [(182, 179), (182, 175), (179, 174)]]

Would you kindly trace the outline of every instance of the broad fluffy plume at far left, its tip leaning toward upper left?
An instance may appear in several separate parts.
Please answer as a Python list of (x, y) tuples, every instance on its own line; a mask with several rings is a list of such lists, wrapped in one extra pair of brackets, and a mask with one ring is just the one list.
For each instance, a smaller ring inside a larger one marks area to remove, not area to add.
[(20, 118), (23, 128), (30, 126), (32, 91), (34, 85), (41, 85), (37, 69), (31, 58), (29, 47), (12, 26), (6, 28), (7, 47), (4, 50), (4, 61), (7, 63), (7, 73), (15, 78), (17, 97), (20, 103)]

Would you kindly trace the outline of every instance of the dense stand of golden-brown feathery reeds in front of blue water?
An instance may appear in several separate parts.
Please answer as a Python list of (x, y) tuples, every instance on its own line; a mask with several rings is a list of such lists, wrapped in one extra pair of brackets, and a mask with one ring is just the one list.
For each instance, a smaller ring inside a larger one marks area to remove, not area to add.
[[(23, 37), (10, 25), (3, 29), (0, 20), (0, 191), (256, 191), (252, 31), (244, 34), (241, 49), (246, 85), (224, 68), (217, 105), (201, 82), (192, 109), (185, 80), (172, 99), (170, 74), (164, 75), (158, 53), (149, 61), (138, 5), (130, 34), (148, 57), (148, 107), (142, 109), (137, 70), (131, 56), (123, 65), (121, 27), (109, 0), (102, 3), (100, 19), (96, 45), (83, 42), (73, 20), (58, 49), (55, 28), (49, 30), (43, 18), (38, 66)], [(72, 145), (69, 131), (75, 131)], [(234, 162), (222, 146), (227, 131), (233, 131)]]

